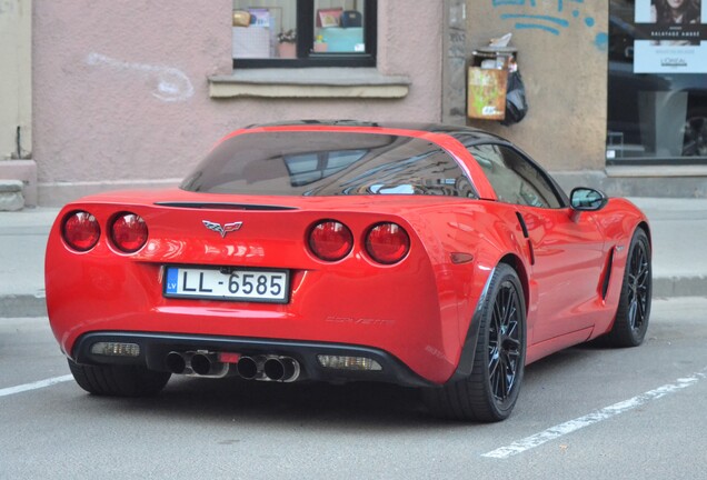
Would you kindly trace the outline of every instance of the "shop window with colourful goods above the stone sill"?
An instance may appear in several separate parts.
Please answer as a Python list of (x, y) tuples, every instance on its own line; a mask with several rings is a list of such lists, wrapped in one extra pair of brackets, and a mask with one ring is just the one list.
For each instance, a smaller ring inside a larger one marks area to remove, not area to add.
[(233, 0), (233, 68), (375, 67), (377, 0)]

